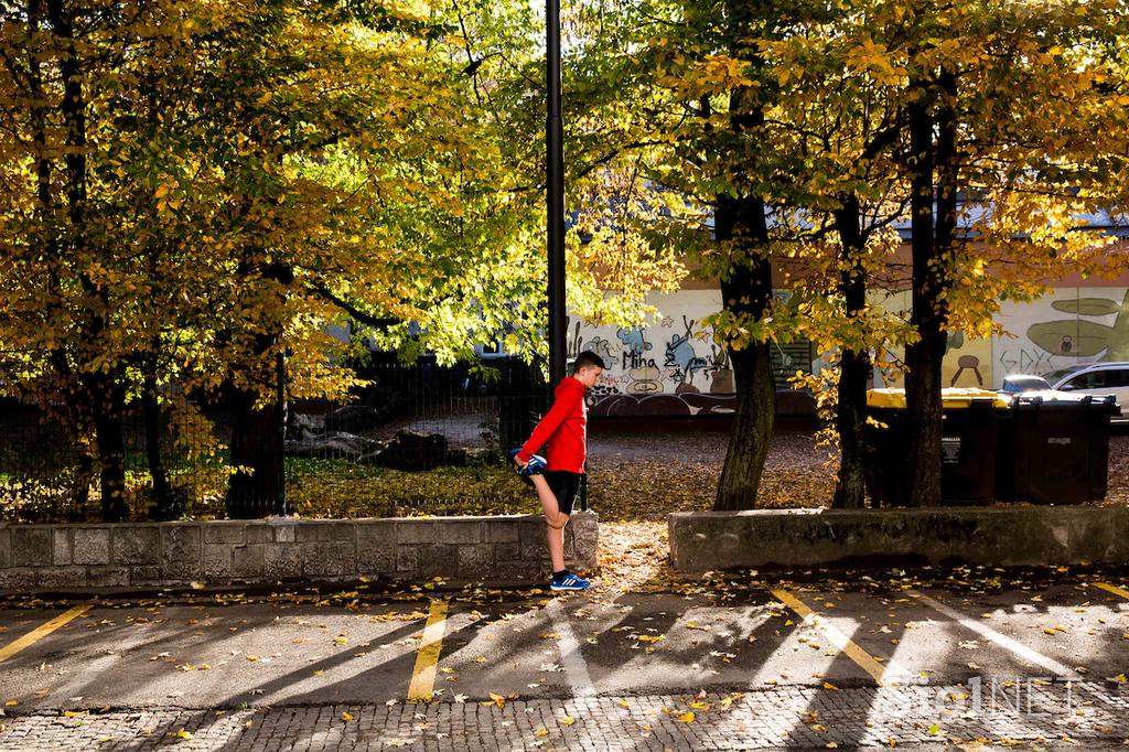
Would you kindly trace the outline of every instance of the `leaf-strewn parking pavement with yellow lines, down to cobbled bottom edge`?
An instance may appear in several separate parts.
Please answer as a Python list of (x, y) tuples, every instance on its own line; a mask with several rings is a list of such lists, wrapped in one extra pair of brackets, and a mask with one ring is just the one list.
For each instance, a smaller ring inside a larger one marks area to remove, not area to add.
[(14, 600), (0, 750), (1129, 744), (1129, 578), (1043, 574)]

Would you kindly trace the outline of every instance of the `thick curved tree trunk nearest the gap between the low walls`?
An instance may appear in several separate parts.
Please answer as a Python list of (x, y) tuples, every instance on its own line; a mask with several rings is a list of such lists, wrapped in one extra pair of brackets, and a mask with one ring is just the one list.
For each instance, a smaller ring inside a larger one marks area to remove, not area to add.
[[(772, 301), (772, 265), (760, 256), (756, 246), (768, 238), (764, 201), (759, 198), (729, 199), (719, 196), (715, 216), (718, 241), (734, 241), (747, 254), (744, 261), (721, 280), (721, 299), (726, 309), (760, 320)], [(776, 420), (776, 379), (769, 342), (750, 342), (737, 350), (726, 344), (733, 364), (737, 393), (729, 448), (718, 481), (717, 510), (752, 509), (764, 472), (772, 426)]]

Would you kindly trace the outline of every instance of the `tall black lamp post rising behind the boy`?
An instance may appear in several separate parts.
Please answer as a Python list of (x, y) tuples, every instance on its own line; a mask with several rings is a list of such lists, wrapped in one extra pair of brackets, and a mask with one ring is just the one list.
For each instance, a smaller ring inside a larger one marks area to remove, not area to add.
[(564, 134), (561, 121), (561, 6), (545, 0), (546, 207), (549, 211), (549, 388), (564, 377)]

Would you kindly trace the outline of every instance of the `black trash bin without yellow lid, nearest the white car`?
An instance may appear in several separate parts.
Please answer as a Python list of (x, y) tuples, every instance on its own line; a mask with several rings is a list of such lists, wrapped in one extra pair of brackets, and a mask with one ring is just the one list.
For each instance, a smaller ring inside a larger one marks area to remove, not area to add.
[(1004, 443), (1001, 498), (1085, 504), (1105, 498), (1112, 396), (1018, 396)]

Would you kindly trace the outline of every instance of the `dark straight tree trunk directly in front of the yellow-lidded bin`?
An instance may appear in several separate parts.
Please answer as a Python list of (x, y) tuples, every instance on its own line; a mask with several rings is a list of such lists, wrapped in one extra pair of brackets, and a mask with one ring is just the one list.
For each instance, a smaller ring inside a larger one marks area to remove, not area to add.
[[(912, 212), (912, 309), (910, 323), (919, 339), (905, 349), (905, 365), (909, 373), (905, 376), (905, 419), (909, 437), (907, 463), (907, 484), (910, 506), (931, 507), (940, 504), (940, 437), (942, 437), (942, 362), (945, 357), (945, 288), (947, 286), (945, 236), (938, 245), (938, 235), (934, 226), (934, 170), (938, 157), (943, 156), (946, 139), (945, 124), (940, 123), (942, 134), (937, 146), (934, 145), (935, 117), (930, 113), (930, 97), (926, 96), (928, 81), (917, 81), (922, 96), (909, 105), (910, 151), (912, 158), (912, 194), (910, 211)], [(944, 167), (943, 167), (944, 168)], [(942, 199), (955, 202), (953, 192)], [(954, 204), (955, 206), (955, 204)], [(948, 218), (940, 211), (942, 221), (936, 229), (942, 229)], [(955, 220), (955, 213), (952, 216)]]

